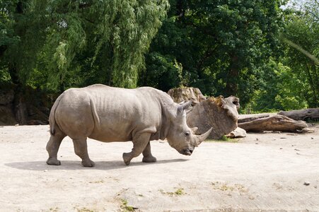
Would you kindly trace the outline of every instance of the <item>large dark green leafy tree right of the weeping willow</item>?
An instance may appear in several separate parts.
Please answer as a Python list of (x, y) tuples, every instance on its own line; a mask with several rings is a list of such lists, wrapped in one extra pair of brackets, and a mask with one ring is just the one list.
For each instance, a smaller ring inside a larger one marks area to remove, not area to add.
[[(237, 95), (242, 102), (249, 102), (260, 84), (262, 64), (279, 52), (281, 4), (255, 0), (170, 1), (168, 19), (149, 54), (156, 52), (161, 58), (182, 64), (185, 86), (199, 87), (207, 95)], [(149, 58), (146, 73), (161, 73), (154, 71), (153, 57)], [(158, 76), (158, 81), (165, 81), (162, 76), (167, 74)]]

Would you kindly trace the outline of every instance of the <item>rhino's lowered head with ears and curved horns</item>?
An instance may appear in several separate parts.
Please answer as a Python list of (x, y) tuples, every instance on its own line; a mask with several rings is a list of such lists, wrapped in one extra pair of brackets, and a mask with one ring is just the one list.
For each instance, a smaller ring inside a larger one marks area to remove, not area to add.
[(195, 135), (197, 127), (190, 128), (186, 124), (187, 109), (192, 101), (179, 105), (175, 115), (170, 120), (170, 129), (166, 136), (169, 145), (182, 155), (192, 155), (195, 147), (199, 146), (211, 133), (211, 129), (202, 135)]

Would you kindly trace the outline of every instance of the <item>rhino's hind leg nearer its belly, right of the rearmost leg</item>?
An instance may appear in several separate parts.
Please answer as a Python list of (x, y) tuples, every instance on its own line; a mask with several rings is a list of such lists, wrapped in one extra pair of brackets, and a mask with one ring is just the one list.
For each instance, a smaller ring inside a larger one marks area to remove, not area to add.
[(74, 152), (82, 159), (84, 167), (93, 167), (95, 163), (88, 157), (88, 145), (85, 139), (73, 139)]

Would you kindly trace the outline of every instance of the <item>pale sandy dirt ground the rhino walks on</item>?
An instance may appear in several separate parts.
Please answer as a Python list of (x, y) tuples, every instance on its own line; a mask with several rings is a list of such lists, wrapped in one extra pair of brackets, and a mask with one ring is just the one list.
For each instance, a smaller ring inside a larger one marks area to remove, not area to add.
[(82, 167), (68, 137), (46, 165), (49, 126), (0, 127), (0, 211), (319, 211), (319, 126), (311, 134), (205, 141), (191, 156), (152, 141), (157, 163), (126, 166), (131, 142), (88, 141)]

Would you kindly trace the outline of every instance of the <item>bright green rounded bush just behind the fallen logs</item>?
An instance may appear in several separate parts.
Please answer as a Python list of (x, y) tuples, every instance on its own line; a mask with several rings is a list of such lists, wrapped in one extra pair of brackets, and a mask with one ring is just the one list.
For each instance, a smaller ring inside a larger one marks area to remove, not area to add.
[(269, 59), (261, 76), (260, 89), (255, 90), (250, 107), (253, 111), (298, 110), (308, 107), (304, 93), (307, 83), (289, 66)]

